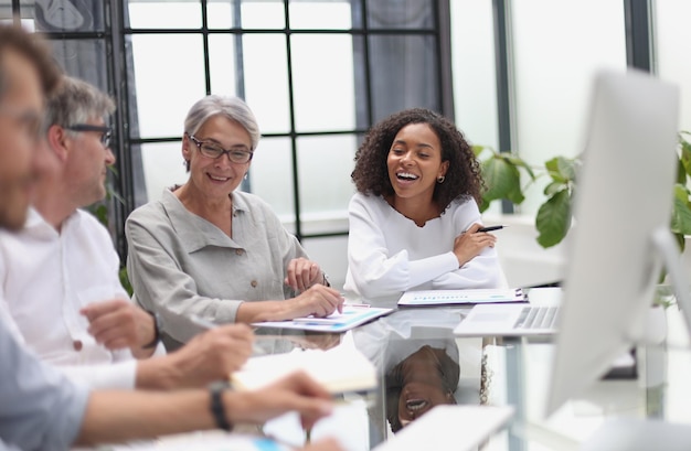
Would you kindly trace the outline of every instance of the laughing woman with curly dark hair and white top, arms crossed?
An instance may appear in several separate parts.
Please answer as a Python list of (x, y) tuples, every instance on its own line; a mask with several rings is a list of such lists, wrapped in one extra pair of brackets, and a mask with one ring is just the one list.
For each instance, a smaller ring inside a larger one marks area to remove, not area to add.
[(355, 153), (344, 289), (501, 288), (496, 237), (478, 232), (480, 167), (463, 133), (423, 108), (375, 125)]

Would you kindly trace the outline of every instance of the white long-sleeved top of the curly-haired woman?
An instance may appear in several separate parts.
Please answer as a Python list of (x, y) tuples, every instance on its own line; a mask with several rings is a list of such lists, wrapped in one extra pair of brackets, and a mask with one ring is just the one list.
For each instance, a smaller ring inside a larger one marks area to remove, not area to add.
[(348, 212), (346, 290), (372, 299), (398, 296), (407, 290), (507, 286), (493, 248), (485, 248), (458, 267), (454, 239), (472, 224), (481, 224), (480, 211), (472, 200), (453, 201), (424, 227), (403, 216), (381, 196), (357, 193)]

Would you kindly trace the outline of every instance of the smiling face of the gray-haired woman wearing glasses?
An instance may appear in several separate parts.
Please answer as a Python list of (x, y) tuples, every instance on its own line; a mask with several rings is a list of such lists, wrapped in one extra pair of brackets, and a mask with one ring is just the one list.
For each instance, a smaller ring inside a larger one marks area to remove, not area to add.
[[(211, 141), (223, 149), (252, 149), (247, 130), (225, 116), (213, 116), (196, 130), (194, 138)], [(185, 135), (182, 141), (182, 155), (190, 162), (190, 182), (194, 189), (210, 197), (227, 197), (249, 170), (247, 163), (232, 163), (227, 154), (212, 159), (204, 157), (196, 144)]]

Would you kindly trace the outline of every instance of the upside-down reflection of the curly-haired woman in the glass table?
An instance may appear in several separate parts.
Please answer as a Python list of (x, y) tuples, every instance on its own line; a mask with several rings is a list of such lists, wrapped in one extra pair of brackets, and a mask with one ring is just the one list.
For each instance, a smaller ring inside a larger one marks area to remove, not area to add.
[(458, 341), (453, 334), (466, 312), (404, 309), (352, 331), (355, 346), (382, 375), (382, 399), (369, 411), (372, 442), (398, 432), (434, 406), (479, 404), (481, 342)]

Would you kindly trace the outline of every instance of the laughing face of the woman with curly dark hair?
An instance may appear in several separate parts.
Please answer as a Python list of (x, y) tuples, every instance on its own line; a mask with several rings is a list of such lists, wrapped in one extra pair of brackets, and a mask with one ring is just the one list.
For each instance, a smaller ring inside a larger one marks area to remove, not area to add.
[(427, 124), (410, 124), (396, 133), (386, 158), (389, 180), (400, 198), (432, 202), (437, 178), (445, 175), (439, 138)]

